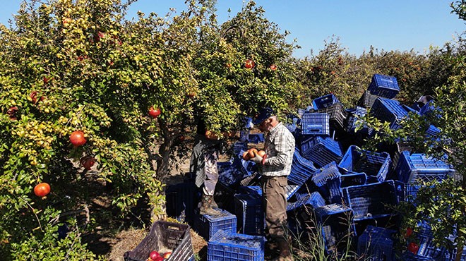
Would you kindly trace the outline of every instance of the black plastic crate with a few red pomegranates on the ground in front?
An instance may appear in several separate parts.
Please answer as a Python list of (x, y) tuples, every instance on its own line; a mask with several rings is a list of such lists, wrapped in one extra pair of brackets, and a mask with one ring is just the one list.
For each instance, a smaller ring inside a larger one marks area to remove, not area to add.
[(125, 261), (145, 261), (150, 252), (172, 250), (167, 261), (185, 261), (193, 257), (189, 226), (167, 221), (156, 221), (147, 236), (136, 248), (124, 253)]

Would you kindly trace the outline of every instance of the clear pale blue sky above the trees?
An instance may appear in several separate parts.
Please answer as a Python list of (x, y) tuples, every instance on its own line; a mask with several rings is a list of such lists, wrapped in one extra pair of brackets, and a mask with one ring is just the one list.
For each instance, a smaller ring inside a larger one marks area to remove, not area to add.
[[(414, 51), (424, 54), (429, 46), (453, 42), (466, 29), (450, 8), (453, 0), (256, 0), (265, 17), (281, 30), (291, 32), (289, 41), (301, 46), (294, 56), (302, 58), (323, 49), (330, 37), (340, 38), (350, 54), (362, 54), (372, 45), (377, 49)], [(241, 10), (246, 1), (218, 0), (220, 23)], [(7, 23), (19, 9), (21, 0), (2, 1), (0, 23)], [(165, 15), (169, 8), (181, 11), (184, 0), (138, 0), (129, 10)], [(228, 9), (231, 13), (228, 13)]]

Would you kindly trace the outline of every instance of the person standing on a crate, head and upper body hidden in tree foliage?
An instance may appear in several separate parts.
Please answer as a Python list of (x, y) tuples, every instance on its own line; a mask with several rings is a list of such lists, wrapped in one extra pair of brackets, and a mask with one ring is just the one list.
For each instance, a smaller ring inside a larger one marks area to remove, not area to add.
[(217, 208), (217, 204), (215, 204), (213, 196), (218, 181), (217, 160), (221, 145), (221, 140), (205, 129), (203, 121), (198, 121), (189, 171), (196, 174), (196, 186), (202, 189), (200, 214), (210, 216), (220, 214), (220, 211), (214, 210), (214, 207)]

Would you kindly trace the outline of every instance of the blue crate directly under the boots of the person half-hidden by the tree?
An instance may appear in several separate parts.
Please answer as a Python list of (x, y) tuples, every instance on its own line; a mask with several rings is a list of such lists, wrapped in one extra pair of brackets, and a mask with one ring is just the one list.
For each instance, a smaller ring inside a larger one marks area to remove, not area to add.
[(194, 221), (194, 229), (198, 232), (199, 236), (202, 236), (207, 241), (219, 230), (237, 232), (237, 216), (227, 212), (227, 210), (217, 210), (220, 211), (220, 214), (217, 216), (198, 214), (198, 218)]

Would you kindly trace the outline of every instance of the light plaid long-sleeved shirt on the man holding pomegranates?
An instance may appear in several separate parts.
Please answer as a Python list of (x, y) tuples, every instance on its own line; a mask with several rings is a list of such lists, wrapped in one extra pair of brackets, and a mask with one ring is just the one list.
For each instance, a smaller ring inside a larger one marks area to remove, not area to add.
[(294, 153), (294, 137), (287, 127), (278, 123), (265, 135), (267, 157), (262, 166), (263, 176), (288, 176)]

